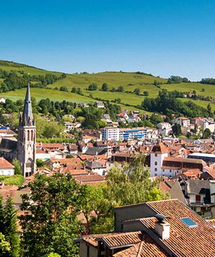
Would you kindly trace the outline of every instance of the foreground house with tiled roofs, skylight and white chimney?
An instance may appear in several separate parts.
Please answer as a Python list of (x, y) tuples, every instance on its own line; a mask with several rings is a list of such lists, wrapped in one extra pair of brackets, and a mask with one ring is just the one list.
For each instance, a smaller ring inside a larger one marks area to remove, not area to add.
[(215, 230), (180, 200), (115, 209), (115, 230), (75, 240), (80, 257), (214, 257)]

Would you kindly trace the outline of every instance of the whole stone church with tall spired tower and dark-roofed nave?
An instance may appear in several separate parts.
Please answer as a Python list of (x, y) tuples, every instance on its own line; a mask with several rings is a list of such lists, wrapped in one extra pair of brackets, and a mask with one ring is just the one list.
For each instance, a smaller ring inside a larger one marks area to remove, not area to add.
[(23, 176), (30, 176), (36, 170), (36, 126), (32, 113), (29, 82), (23, 113), (20, 115), (18, 141), (1, 139), (0, 155), (11, 161), (17, 158), (20, 161)]

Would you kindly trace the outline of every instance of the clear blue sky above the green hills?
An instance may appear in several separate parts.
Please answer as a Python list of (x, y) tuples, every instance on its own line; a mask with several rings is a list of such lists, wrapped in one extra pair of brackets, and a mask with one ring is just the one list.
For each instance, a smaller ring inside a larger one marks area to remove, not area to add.
[(68, 73), (215, 77), (214, 0), (1, 1), (0, 59)]

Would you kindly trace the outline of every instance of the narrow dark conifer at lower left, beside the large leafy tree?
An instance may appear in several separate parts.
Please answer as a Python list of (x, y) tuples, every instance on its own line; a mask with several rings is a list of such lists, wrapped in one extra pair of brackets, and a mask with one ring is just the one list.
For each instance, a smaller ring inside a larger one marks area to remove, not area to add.
[(11, 246), (10, 257), (20, 256), (20, 237), (18, 236), (17, 216), (13, 207), (11, 195), (6, 200), (4, 208), (4, 236)]

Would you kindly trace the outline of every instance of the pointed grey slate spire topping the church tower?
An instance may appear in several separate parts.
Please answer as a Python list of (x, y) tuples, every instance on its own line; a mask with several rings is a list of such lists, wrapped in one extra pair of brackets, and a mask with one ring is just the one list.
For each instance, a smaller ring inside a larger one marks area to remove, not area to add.
[(34, 123), (34, 116), (32, 113), (32, 100), (30, 94), (30, 81), (27, 84), (27, 91), (25, 95), (24, 109), (22, 113), (22, 126), (32, 126)]

